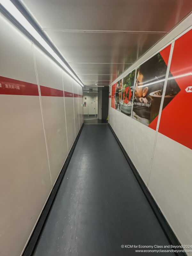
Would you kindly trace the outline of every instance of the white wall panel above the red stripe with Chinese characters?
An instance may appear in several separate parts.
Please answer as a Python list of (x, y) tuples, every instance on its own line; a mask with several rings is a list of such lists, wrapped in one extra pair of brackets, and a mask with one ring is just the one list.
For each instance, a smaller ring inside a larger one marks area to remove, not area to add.
[(31, 41), (1, 13), (0, 24), (0, 76), (36, 84)]

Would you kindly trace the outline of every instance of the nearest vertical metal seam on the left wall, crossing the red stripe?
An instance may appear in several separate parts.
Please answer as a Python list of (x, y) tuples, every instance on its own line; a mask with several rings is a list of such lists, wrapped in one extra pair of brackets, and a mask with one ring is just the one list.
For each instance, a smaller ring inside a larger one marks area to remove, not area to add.
[(50, 158), (49, 158), (49, 150), (48, 150), (48, 143), (47, 143), (47, 135), (46, 135), (45, 125), (44, 125), (44, 117), (43, 117), (41, 90), (40, 90), (39, 78), (38, 78), (37, 67), (36, 67), (36, 58), (35, 58), (35, 52), (34, 52), (34, 47), (33, 47), (33, 41), (32, 40), (31, 40), (31, 47), (32, 47), (32, 53), (33, 53), (35, 75), (36, 75), (37, 86), (38, 86), (38, 91), (39, 91), (39, 101), (40, 101), (41, 116), (42, 116), (42, 123), (43, 123), (44, 137), (45, 137), (45, 145), (46, 145), (46, 151), (47, 151), (47, 160), (48, 160), (48, 165), (49, 165), (49, 175), (50, 175), (50, 179), (51, 179), (51, 185), (53, 187), (53, 182), (52, 182), (52, 177), (51, 177), (51, 167), (50, 167), (50, 162), (49, 162)]

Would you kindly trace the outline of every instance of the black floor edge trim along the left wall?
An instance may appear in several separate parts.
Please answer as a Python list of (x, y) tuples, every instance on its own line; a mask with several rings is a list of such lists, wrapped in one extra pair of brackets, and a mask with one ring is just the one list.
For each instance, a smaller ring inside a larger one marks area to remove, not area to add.
[(72, 148), (71, 148), (71, 150), (70, 150), (70, 152), (68, 154), (68, 157), (67, 157), (67, 159), (66, 159), (66, 161), (65, 161), (65, 163), (63, 165), (63, 168), (62, 168), (62, 170), (61, 170), (61, 172), (60, 172), (60, 174), (59, 174), (59, 176), (57, 178), (57, 181), (55, 182), (55, 185), (54, 185), (54, 187), (52, 189), (52, 192), (51, 192), (51, 194), (50, 194), (50, 196), (49, 196), (49, 198), (48, 198), (48, 200), (47, 200), (47, 202), (46, 202), (46, 204), (44, 206), (44, 209), (43, 209), (43, 211), (41, 213), (41, 216), (39, 217), (39, 220), (38, 220), (38, 222), (36, 224), (36, 227), (35, 227), (32, 235), (31, 235), (31, 237), (29, 239), (29, 242), (28, 242), (28, 244), (27, 244), (27, 246), (25, 248), (25, 251), (23, 252), (22, 256), (32, 256), (34, 251), (35, 251), (35, 249), (36, 249), (36, 245), (38, 243), (39, 237), (41, 236), (41, 232), (42, 232), (42, 230), (44, 228), (45, 222), (46, 222), (47, 217), (49, 215), (49, 212), (50, 212), (50, 210), (52, 208), (52, 204), (53, 204), (54, 199), (55, 199), (55, 197), (57, 195), (57, 192), (58, 192), (58, 190), (60, 188), (60, 184), (61, 184), (61, 182), (63, 180), (65, 171), (67, 169), (67, 166), (68, 166), (68, 163), (69, 163), (69, 161), (71, 159), (73, 151), (74, 151), (74, 149), (76, 147), (76, 144), (77, 144), (77, 141), (78, 141), (79, 136), (81, 134), (81, 131), (83, 129), (83, 126), (84, 126), (84, 123), (82, 124), (82, 126), (81, 126), (81, 128), (80, 128), (80, 130), (79, 130), (79, 132), (78, 132), (78, 134), (76, 136), (76, 139), (75, 139), (75, 141), (73, 143), (73, 146), (72, 146)]

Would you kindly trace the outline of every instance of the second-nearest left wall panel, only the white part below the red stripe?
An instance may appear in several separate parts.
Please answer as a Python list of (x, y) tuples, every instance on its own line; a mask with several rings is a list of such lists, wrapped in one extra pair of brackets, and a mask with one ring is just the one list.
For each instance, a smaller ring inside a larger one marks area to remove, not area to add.
[(54, 184), (68, 155), (63, 97), (42, 96), (42, 104)]

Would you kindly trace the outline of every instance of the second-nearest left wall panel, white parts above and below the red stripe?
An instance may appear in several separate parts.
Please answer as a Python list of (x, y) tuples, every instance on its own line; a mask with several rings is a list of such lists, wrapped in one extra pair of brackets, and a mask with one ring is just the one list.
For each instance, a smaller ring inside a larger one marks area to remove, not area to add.
[[(34, 50), (39, 84), (63, 92), (62, 69), (36, 46)], [(41, 96), (41, 100), (54, 184), (68, 155), (64, 98)]]

